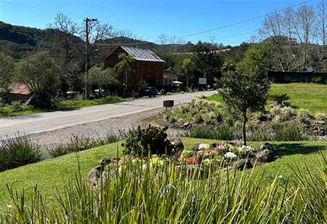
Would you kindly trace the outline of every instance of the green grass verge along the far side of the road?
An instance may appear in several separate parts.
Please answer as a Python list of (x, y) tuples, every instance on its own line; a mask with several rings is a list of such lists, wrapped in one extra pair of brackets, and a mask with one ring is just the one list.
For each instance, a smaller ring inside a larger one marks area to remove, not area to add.
[(88, 106), (98, 106), (103, 104), (114, 104), (117, 102), (125, 102), (132, 100), (132, 97), (129, 98), (121, 98), (121, 97), (103, 97), (98, 100), (63, 100), (59, 102), (55, 102), (54, 109), (37, 109), (33, 106), (30, 106), (30, 109), (27, 111), (10, 111), (9, 115), (3, 115), (0, 113), (0, 118), (4, 117), (12, 117), (18, 115), (29, 115), (32, 113), (44, 113), (44, 112), (52, 112), (52, 111), (66, 111), (71, 109), (79, 109), (82, 107)]

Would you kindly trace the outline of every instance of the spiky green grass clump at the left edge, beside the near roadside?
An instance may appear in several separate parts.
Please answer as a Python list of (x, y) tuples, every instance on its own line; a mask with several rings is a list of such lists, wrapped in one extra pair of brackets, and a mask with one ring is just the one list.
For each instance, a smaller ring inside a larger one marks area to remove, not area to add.
[(0, 147), (0, 171), (39, 162), (42, 158), (39, 146), (32, 144), (25, 136), (3, 140)]

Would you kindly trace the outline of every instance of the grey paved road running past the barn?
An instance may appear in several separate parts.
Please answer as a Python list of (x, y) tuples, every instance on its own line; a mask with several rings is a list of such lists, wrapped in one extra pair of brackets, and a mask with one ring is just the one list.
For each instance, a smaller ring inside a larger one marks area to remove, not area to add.
[[(203, 92), (206, 96), (214, 91)], [(108, 118), (115, 118), (132, 113), (141, 113), (150, 109), (162, 107), (163, 100), (175, 100), (175, 105), (190, 102), (192, 97), (199, 93), (187, 93), (181, 95), (157, 96), (130, 102), (90, 106), (72, 111), (56, 111), (50, 113), (35, 113), (14, 118), (0, 119), (0, 138), (12, 138), (20, 134), (40, 133), (71, 127), (88, 122), (97, 122)]]

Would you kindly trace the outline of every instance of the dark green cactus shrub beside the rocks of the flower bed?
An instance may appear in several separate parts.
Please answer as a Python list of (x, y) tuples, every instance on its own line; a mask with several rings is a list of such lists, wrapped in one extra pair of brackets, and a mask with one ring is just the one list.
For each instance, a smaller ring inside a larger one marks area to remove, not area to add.
[[(166, 153), (166, 139), (168, 127), (153, 127), (150, 124), (144, 129), (140, 126), (137, 129), (130, 129), (126, 140), (121, 146), (125, 147), (127, 154), (147, 156), (151, 154)], [(168, 152), (169, 153), (169, 152)]]

